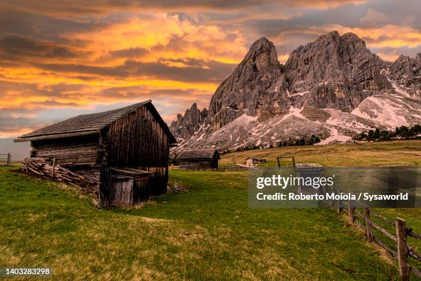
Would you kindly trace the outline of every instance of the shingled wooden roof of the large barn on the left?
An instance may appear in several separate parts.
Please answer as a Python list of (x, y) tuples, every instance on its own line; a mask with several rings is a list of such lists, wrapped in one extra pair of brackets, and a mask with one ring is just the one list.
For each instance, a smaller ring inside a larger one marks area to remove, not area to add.
[(142, 101), (117, 110), (109, 110), (107, 112), (99, 112), (93, 114), (83, 114), (65, 121), (55, 123), (53, 125), (36, 129), (34, 132), (24, 134), (14, 139), (15, 142), (22, 141), (38, 141), (43, 139), (65, 138), (70, 136), (83, 136), (88, 134), (98, 134), (100, 129), (113, 123), (114, 121), (126, 116), (127, 114), (138, 110), (139, 107), (147, 106), (152, 114), (157, 118), (164, 132), (169, 136), (170, 143), (175, 144), (175, 138), (171, 134), (169, 127), (162, 120), (160, 114), (152, 105), (151, 100)]

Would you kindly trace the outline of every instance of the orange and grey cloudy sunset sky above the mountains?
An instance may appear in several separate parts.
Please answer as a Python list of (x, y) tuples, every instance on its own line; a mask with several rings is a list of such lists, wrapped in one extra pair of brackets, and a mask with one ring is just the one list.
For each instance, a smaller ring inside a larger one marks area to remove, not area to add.
[(415, 56), (420, 11), (421, 1), (0, 0), (0, 138), (147, 99), (170, 123), (193, 102), (208, 107), (263, 36), (281, 63), (332, 30), (386, 61)]

